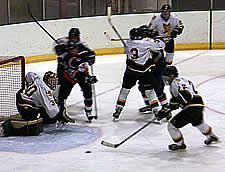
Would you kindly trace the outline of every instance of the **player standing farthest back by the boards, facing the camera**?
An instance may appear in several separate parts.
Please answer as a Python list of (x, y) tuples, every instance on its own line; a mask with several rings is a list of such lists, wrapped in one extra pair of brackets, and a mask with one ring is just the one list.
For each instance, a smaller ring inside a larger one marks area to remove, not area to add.
[(170, 5), (165, 4), (161, 8), (161, 14), (152, 17), (149, 27), (158, 31), (159, 36), (165, 36), (165, 60), (167, 64), (172, 64), (174, 57), (174, 38), (180, 35), (184, 29), (181, 20), (178, 16), (171, 13)]

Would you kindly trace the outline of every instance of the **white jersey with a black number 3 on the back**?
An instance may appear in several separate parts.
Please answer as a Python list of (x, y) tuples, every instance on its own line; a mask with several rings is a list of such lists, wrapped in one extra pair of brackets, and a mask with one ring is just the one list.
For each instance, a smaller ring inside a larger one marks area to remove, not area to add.
[(164, 47), (164, 42), (157, 39), (128, 40), (125, 47), (127, 67), (133, 71), (146, 72), (154, 64), (153, 51)]

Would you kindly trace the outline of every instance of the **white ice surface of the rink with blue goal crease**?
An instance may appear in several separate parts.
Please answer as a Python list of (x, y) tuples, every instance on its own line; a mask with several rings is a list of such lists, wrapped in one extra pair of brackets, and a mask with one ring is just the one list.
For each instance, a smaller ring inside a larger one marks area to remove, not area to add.
[[(44, 133), (35, 137), (0, 138), (4, 143), (0, 144), (0, 171), (225, 172), (225, 50), (175, 52), (174, 64), (180, 75), (193, 81), (202, 95), (206, 104), (205, 121), (221, 140), (206, 146), (205, 137), (189, 124), (181, 129), (187, 150), (179, 152), (168, 150), (173, 141), (167, 122), (151, 123), (118, 148), (101, 145), (102, 140), (119, 143), (152, 119), (152, 114), (138, 112), (144, 102), (135, 86), (119, 122), (112, 122), (125, 59), (125, 55), (96, 57), (97, 120), (86, 122), (82, 92), (76, 85), (67, 100), (69, 114), (76, 123), (58, 128), (46, 126)], [(56, 66), (56, 61), (27, 64), (26, 72), (43, 76), (49, 70), (55, 72)], [(168, 87), (165, 90), (170, 98)]]

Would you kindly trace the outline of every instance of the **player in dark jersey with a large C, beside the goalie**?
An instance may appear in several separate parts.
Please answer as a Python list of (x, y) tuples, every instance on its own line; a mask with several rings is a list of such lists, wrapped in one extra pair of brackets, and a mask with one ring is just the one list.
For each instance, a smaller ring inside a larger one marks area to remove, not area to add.
[(69, 31), (69, 37), (57, 40), (60, 44), (55, 46), (58, 57), (57, 74), (58, 82), (58, 104), (60, 110), (65, 109), (65, 101), (68, 98), (73, 86), (78, 83), (84, 96), (86, 116), (91, 121), (92, 115), (92, 88), (91, 84), (97, 82), (95, 76), (88, 73), (88, 65), (95, 63), (95, 52), (80, 40), (78, 28)]

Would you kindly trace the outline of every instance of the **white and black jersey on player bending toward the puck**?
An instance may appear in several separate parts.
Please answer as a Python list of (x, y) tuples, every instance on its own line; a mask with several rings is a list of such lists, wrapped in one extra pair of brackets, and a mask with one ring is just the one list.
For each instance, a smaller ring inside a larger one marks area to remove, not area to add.
[(193, 83), (182, 77), (174, 78), (170, 86), (170, 93), (173, 98), (176, 98), (181, 107), (185, 107), (193, 103), (203, 103), (202, 100), (199, 99), (200, 96), (197, 94), (198, 92), (195, 90)]

